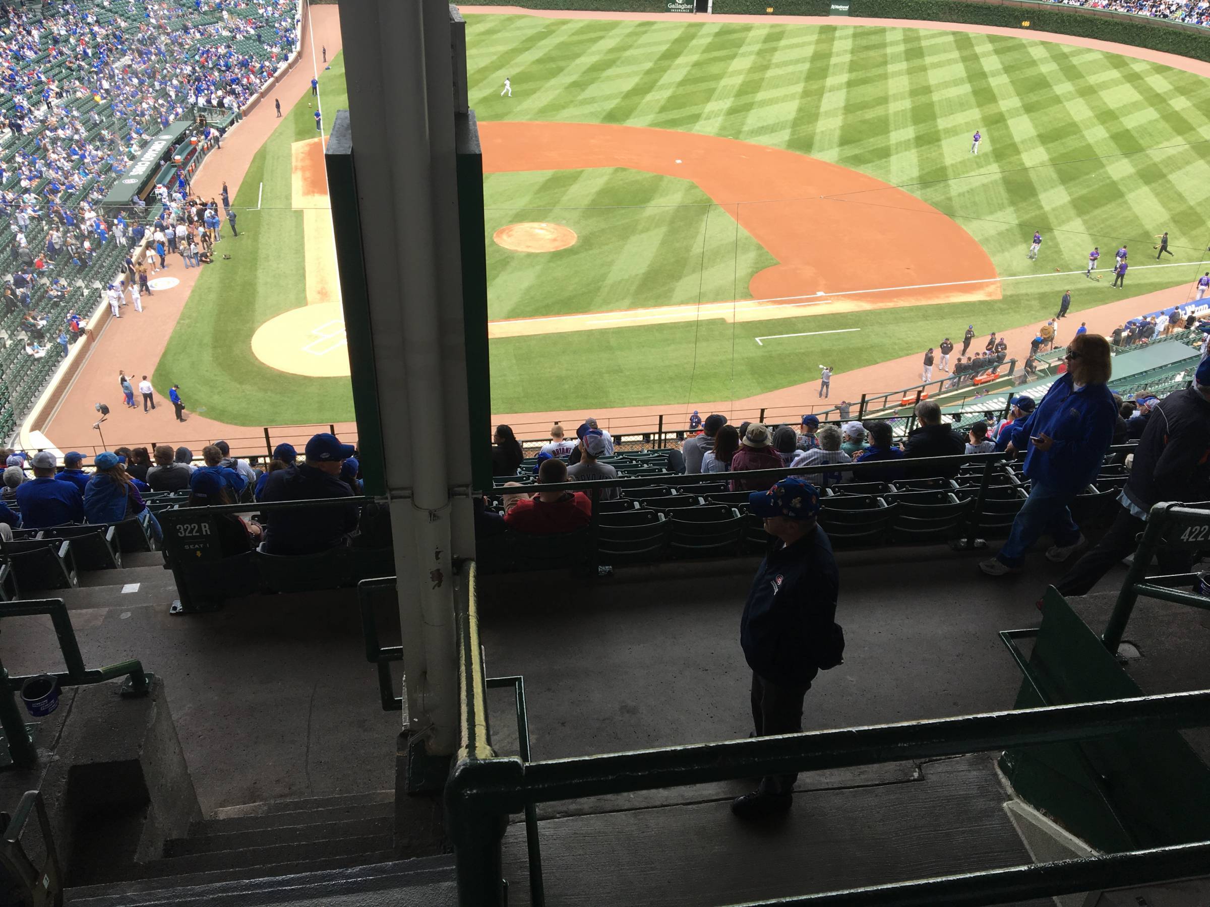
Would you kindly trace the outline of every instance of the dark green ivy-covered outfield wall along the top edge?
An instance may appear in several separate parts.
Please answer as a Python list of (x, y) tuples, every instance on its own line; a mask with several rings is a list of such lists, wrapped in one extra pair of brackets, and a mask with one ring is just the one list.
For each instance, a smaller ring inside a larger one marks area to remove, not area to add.
[[(459, 6), (495, 6), (500, 0), (461, 0)], [(515, 0), (526, 10), (667, 13), (668, 0)], [(1146, 47), (1210, 62), (1210, 28), (1111, 10), (1038, 0), (713, 0), (719, 15), (845, 16), (916, 22), (955, 22)], [(1027, 23), (1027, 24), (1026, 24)]]

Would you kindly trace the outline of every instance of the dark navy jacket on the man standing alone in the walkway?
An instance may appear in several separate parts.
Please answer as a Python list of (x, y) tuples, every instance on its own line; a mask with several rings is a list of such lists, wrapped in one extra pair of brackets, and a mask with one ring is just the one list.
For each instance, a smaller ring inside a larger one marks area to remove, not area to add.
[(739, 622), (748, 666), (782, 687), (809, 687), (812, 651), (836, 619), (840, 571), (828, 535), (816, 531), (782, 545), (760, 565)]

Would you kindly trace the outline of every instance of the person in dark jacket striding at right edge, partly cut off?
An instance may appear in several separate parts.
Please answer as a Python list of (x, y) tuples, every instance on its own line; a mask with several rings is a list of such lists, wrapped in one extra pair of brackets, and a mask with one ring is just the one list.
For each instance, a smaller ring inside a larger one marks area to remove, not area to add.
[[(1154, 398), (1152, 398), (1154, 399)], [(1134, 464), (1101, 541), (1072, 565), (1055, 588), (1084, 595), (1136, 548), (1151, 508), (1163, 501), (1210, 499), (1210, 359), (1203, 359), (1193, 383), (1152, 404), (1151, 417), (1134, 449)], [(1187, 573), (1195, 551), (1160, 545), (1157, 574)]]

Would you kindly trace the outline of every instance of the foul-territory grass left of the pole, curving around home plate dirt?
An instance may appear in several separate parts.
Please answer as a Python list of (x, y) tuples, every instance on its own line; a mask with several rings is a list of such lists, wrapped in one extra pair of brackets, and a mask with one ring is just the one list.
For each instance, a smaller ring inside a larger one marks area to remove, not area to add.
[[(324, 132), (348, 106), (345, 59), (338, 53), (319, 75)], [(237, 426), (306, 424), (352, 417), (348, 379), (309, 379), (270, 369), (252, 353), (252, 335), (270, 318), (306, 304), (302, 213), (292, 209), (290, 145), (316, 137), (307, 94), (282, 120), (232, 198), (236, 229), (223, 221), (223, 241), (207, 265), (152, 380), (180, 385), (191, 411)], [(257, 196), (264, 184), (260, 210)], [(229, 254), (231, 259), (223, 260)], [(173, 267), (180, 267), (173, 258)]]

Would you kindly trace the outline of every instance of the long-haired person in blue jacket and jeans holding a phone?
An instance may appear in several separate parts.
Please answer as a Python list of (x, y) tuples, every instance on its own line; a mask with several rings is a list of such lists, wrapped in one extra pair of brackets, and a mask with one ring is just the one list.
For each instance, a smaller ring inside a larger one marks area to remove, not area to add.
[(1012, 426), (1006, 449), (1025, 451), (1030, 497), (999, 553), (979, 564), (989, 576), (1019, 572), (1025, 553), (1043, 533), (1054, 539), (1047, 559), (1055, 562), (1084, 543), (1068, 506), (1096, 478), (1113, 440), (1118, 411), (1108, 388), (1110, 342), (1097, 334), (1079, 334), (1064, 360), (1066, 374), (1028, 418)]

